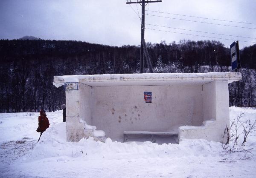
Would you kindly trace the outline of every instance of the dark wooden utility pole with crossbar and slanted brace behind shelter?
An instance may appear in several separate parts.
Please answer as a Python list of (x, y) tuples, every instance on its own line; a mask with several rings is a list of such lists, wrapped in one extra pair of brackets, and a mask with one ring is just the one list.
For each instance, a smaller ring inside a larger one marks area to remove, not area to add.
[[(161, 3), (162, 0), (140, 0), (140, 1), (134, 1), (134, 2), (128, 2), (126, 4), (140, 4), (141, 5), (141, 36), (140, 36), (140, 73), (144, 72), (144, 46), (143, 42), (145, 42), (144, 36), (145, 36), (145, 3)], [(146, 56), (147, 57), (147, 56)], [(148, 62), (147, 58), (147, 62)], [(150, 62), (150, 60), (149, 60)], [(148, 63), (148, 66), (151, 66), (151, 64)], [(151, 69), (149, 69), (151, 71)]]

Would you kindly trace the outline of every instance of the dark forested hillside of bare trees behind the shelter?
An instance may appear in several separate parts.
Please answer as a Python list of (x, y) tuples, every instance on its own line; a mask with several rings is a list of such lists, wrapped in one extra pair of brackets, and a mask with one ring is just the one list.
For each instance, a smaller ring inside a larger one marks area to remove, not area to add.
[[(219, 41), (147, 43), (155, 73), (228, 72), (230, 49)], [(229, 84), (230, 106), (256, 106), (256, 45), (240, 51), (243, 79)], [(81, 41), (0, 40), (0, 112), (47, 112), (65, 103), (54, 75), (139, 73), (140, 46)], [(145, 64), (145, 70), (147, 65)]]

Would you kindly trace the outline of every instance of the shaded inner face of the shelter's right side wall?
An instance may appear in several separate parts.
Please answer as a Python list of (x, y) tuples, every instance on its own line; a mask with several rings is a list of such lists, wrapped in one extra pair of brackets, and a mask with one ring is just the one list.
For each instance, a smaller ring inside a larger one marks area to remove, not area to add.
[(216, 86), (215, 81), (203, 85), (204, 121), (216, 120)]

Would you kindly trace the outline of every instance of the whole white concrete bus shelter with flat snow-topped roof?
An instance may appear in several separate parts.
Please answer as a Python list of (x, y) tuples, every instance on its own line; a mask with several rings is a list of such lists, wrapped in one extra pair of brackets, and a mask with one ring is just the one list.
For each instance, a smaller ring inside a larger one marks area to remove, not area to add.
[(228, 83), (238, 80), (237, 72), (73, 75), (54, 76), (54, 85), (65, 85), (67, 141), (103, 136), (97, 128), (119, 141), (124, 133), (173, 133), (222, 142)]

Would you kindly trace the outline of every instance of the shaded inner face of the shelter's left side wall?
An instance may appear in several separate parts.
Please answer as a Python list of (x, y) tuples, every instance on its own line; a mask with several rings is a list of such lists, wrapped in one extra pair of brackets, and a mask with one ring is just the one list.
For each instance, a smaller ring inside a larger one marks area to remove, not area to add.
[(92, 102), (92, 87), (81, 83), (81, 98), (80, 98), (80, 118), (88, 125), (92, 124), (91, 119), (91, 102)]

